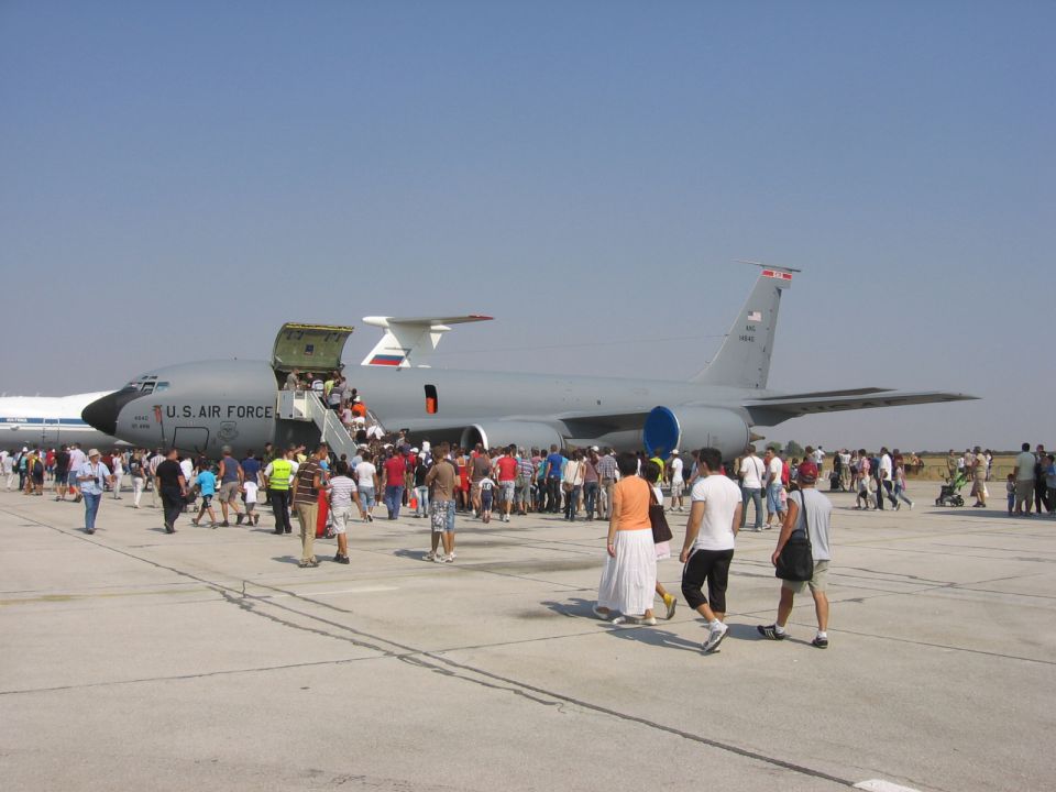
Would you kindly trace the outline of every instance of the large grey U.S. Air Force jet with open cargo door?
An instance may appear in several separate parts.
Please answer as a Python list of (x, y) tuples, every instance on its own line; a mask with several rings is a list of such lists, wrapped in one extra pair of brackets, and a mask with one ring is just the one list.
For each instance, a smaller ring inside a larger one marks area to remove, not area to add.
[[(449, 324), (490, 317), (371, 317), (386, 332), (361, 367), (346, 372), (372, 417), (409, 440), (524, 448), (612, 446), (666, 457), (676, 448), (740, 454), (755, 425), (817, 413), (956, 402), (959, 393), (858, 388), (782, 393), (768, 388), (781, 294), (798, 271), (762, 266), (718, 354), (689, 382), (455, 371), (419, 365)], [(176, 446), (216, 455), (222, 446), (261, 450), (266, 442), (340, 453), (354, 443), (311, 393), (282, 391), (286, 375), (341, 367), (351, 327), (285, 324), (270, 362), (205, 361), (157, 369), (88, 405), (84, 419), (136, 446)]]

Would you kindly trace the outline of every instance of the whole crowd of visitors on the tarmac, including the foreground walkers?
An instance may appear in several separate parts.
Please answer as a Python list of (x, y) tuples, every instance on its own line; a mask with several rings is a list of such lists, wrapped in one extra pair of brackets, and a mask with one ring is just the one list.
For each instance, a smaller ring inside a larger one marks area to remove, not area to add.
[[(354, 396), (353, 396), (354, 398)], [(344, 398), (338, 404), (343, 404)], [(507, 446), (473, 449), (428, 441), (413, 447), (403, 436), (395, 442), (372, 439), (360, 443), (351, 459), (337, 457), (323, 443), (309, 452), (304, 446), (285, 450), (270, 443), (260, 454), (252, 451), (237, 459), (224, 447), (217, 460), (138, 449), (98, 449), (85, 452), (79, 444), (42, 451), (0, 451), (0, 470), (7, 488), (28, 496), (44, 496), (51, 487), (56, 501), (82, 502), (85, 530), (94, 534), (100, 503), (109, 494), (121, 499), (131, 480), (131, 507), (139, 509), (150, 493), (151, 506), (163, 509), (167, 534), (177, 520), (190, 514), (191, 525), (208, 527), (257, 526), (258, 505), (271, 506), (276, 535), (293, 534), (299, 525), (301, 568), (319, 565), (315, 539), (320, 528), (320, 508), (327, 513), (327, 535), (337, 539), (334, 561), (349, 563), (348, 530), (352, 522), (374, 521), (380, 504), (389, 520), (403, 508), (413, 517), (430, 521), (430, 549), (425, 560), (453, 563), (455, 519), (483, 524), (493, 516), (509, 521), (513, 515), (560, 514), (564, 520), (608, 521), (607, 558), (594, 613), (614, 623), (657, 624), (653, 603), (663, 603), (671, 618), (676, 600), (657, 580), (657, 561), (671, 557), (668, 539), (658, 540), (650, 509), (686, 510), (689, 516), (680, 561), (684, 564), (682, 595), (708, 626), (705, 651), (718, 648), (727, 634), (724, 622), (729, 569), (737, 534), (747, 526), (754, 508), (752, 530), (777, 527), (771, 561), (778, 565), (794, 537), (809, 539), (812, 572), (801, 580), (782, 582), (777, 618), (759, 627), (771, 640), (782, 640), (796, 593), (809, 590), (814, 598), (817, 632), (813, 645), (828, 646), (827, 569), (831, 560), (832, 503), (817, 490), (826, 466), (829, 488), (855, 493), (855, 508), (883, 509), (887, 502), (898, 509), (913, 507), (905, 492), (908, 468), (914, 465), (898, 449), (882, 447), (870, 453), (839, 450), (832, 460), (825, 451), (807, 447), (802, 458), (784, 460), (776, 448), (762, 457), (754, 446), (733, 464), (724, 464), (717, 449), (694, 451), (683, 461), (678, 450), (660, 455), (617, 454), (612, 448), (562, 450), (521, 449)], [(976, 448), (947, 457), (950, 486), (972, 481), (976, 506), (986, 506), (993, 455)], [(664, 488), (668, 494), (664, 495)], [(1008, 476), (1010, 514), (1056, 513), (1056, 463), (1044, 446), (1031, 451), (1023, 443)], [(219, 514), (217, 508), (219, 507)], [(706, 593), (705, 593), (706, 586)]]

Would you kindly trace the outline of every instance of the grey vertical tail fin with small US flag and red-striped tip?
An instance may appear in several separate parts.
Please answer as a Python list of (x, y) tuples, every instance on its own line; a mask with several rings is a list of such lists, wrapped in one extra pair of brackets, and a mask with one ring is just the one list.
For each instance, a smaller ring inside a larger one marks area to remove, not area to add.
[(792, 285), (792, 273), (799, 270), (748, 263), (762, 268), (759, 279), (726, 333), (718, 354), (690, 382), (744, 388), (767, 387), (781, 293)]

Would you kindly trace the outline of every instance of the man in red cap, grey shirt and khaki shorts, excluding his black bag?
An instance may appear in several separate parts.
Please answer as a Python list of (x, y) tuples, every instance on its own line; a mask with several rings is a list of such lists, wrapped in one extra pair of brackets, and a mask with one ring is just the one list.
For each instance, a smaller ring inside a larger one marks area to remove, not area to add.
[[(759, 625), (756, 629), (763, 638), (784, 640), (788, 632), (784, 626), (792, 614), (792, 603), (796, 594), (810, 587), (814, 597), (814, 610), (817, 614), (817, 635), (811, 641), (818, 649), (828, 648), (828, 584), (829, 520), (833, 514), (832, 502), (816, 488), (817, 465), (810, 459), (800, 464), (796, 476), (799, 490), (789, 494), (788, 512), (778, 536), (778, 546), (770, 557), (778, 565), (778, 557), (794, 531), (805, 530), (811, 539), (811, 554), (814, 557), (814, 576), (809, 581), (781, 581), (781, 600), (778, 603), (778, 620), (772, 625)], [(804, 514), (805, 513), (805, 514)], [(805, 517), (805, 519), (804, 519)]]

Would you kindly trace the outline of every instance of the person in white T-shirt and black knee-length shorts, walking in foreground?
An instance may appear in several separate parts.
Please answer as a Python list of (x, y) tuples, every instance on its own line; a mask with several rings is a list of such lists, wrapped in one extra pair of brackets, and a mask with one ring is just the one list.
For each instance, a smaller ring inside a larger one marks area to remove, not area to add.
[[(690, 520), (679, 559), (685, 564), (682, 596), (690, 607), (707, 619), (704, 651), (713, 652), (728, 629), (723, 624), (726, 587), (744, 504), (737, 485), (721, 473), (723, 454), (718, 449), (701, 449), (697, 464), (701, 477), (690, 495)], [(706, 597), (701, 591), (704, 583), (707, 583)]]

